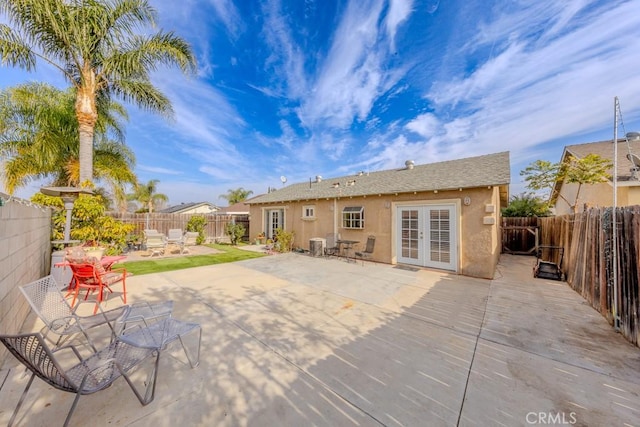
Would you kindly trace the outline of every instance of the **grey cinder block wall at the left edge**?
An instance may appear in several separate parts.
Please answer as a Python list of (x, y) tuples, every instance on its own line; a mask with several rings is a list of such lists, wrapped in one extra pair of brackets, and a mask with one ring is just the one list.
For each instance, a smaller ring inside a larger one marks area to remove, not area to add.
[[(15, 334), (30, 311), (18, 286), (50, 271), (51, 210), (3, 193), (0, 200), (0, 334)], [(8, 356), (0, 345), (0, 366)]]

